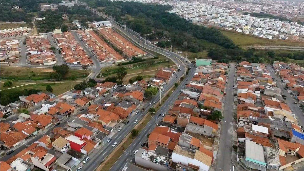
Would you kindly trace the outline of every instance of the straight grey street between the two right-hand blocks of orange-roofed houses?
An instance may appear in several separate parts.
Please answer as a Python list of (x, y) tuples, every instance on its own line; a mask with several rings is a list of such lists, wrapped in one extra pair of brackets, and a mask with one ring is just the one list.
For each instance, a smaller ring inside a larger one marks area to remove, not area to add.
[(226, 85), (226, 96), (223, 109), (223, 119), (221, 123), (221, 133), (219, 137), (219, 148), (216, 157), (216, 167), (218, 170), (233, 171), (231, 164), (231, 148), (233, 134), (233, 80), (235, 77), (235, 64), (230, 63), (228, 73), (228, 84)]

